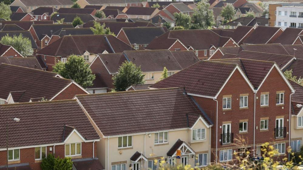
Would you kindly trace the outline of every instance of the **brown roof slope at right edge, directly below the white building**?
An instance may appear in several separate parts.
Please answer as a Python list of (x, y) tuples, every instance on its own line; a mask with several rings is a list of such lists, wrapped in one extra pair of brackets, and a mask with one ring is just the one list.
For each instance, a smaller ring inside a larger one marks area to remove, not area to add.
[(303, 29), (301, 28), (286, 28), (282, 34), (274, 41), (274, 43), (291, 45), (302, 31)]

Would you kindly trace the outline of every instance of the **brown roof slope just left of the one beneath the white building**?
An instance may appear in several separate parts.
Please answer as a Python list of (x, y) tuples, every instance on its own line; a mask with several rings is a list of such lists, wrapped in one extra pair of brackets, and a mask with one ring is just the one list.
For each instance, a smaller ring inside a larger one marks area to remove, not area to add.
[(244, 44), (266, 44), (271, 37), (276, 34), (281, 28), (279, 27), (265, 27), (258, 26), (253, 33), (247, 37), (243, 43)]

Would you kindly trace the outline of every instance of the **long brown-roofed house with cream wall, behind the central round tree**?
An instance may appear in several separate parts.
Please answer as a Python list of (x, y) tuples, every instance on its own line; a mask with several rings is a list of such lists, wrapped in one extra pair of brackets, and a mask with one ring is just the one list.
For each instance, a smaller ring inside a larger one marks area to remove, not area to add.
[(99, 54), (90, 64), (96, 75), (93, 87), (88, 87), (90, 93), (106, 93), (114, 88), (112, 77), (119, 72), (125, 62), (133, 62), (145, 74), (145, 83), (153, 84), (160, 80), (163, 68), (166, 67), (171, 76), (178, 71), (199, 61), (193, 51), (142, 50), (124, 51), (116, 54)]

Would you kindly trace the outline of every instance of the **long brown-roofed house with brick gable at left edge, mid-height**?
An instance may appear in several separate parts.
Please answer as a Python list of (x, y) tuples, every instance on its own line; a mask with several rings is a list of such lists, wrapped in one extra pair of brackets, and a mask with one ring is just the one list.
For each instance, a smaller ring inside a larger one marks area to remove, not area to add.
[(73, 80), (48, 71), (2, 63), (0, 73), (1, 104), (25, 103), (43, 97), (47, 100), (65, 100), (76, 94), (88, 93)]

